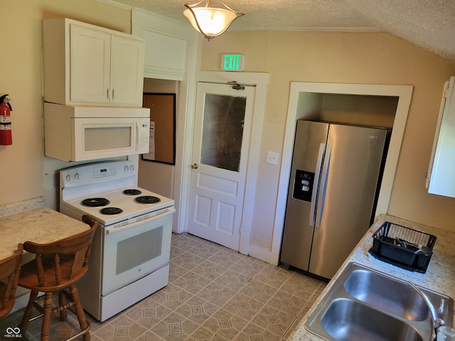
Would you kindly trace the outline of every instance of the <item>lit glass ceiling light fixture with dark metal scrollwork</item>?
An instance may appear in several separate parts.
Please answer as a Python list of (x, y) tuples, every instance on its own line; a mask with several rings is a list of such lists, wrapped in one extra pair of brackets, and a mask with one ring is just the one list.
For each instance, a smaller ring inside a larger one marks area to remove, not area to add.
[[(205, 1), (205, 6), (196, 7), (203, 1)], [(232, 21), (240, 16), (245, 16), (245, 13), (230, 9), (221, 0), (220, 2), (225, 8), (211, 7), (210, 2), (210, 0), (201, 0), (197, 4), (186, 4), (187, 9), (183, 11), (183, 15), (188, 18), (191, 25), (202, 33), (207, 40), (220, 36), (228, 29)]]

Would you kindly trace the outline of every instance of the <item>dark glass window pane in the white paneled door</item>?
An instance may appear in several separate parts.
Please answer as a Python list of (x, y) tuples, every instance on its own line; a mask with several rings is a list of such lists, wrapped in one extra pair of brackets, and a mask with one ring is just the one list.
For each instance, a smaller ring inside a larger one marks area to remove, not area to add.
[(200, 162), (239, 171), (246, 97), (205, 94)]

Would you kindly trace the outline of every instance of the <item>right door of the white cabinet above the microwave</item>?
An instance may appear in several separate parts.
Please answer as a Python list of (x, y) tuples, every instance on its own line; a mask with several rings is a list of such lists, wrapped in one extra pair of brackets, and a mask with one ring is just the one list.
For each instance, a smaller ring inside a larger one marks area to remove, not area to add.
[(142, 105), (144, 42), (112, 36), (110, 102)]

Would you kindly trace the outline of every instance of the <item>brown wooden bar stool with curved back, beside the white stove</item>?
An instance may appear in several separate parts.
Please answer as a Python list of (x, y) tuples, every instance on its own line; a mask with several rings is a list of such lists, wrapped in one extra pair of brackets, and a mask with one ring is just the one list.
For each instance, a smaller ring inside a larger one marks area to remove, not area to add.
[[(82, 220), (90, 224), (90, 229), (73, 237), (48, 244), (23, 243), (24, 250), (36, 254), (33, 261), (22, 266), (18, 281), (19, 286), (31, 290), (28, 305), (19, 325), (23, 335), (30, 320), (43, 316), (41, 341), (49, 340), (50, 315), (60, 312), (60, 320), (65, 321), (67, 309), (74, 305), (73, 313), (79, 321), (80, 332), (68, 340), (73, 340), (80, 335), (83, 335), (85, 341), (90, 340), (90, 325), (85, 319), (75, 283), (87, 272), (93, 234), (98, 223), (88, 216), (82, 217)], [(69, 292), (66, 290), (68, 288)], [(40, 291), (44, 293), (43, 305), (37, 302)], [(52, 307), (53, 293), (58, 293), (58, 306), (55, 308)], [(33, 308), (36, 308), (41, 315), (31, 319)]]

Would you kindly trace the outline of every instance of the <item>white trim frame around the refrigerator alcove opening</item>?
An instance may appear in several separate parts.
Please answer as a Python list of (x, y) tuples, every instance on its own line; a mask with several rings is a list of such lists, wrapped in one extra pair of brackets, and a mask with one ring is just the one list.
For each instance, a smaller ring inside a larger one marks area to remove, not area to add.
[(271, 263), (279, 264), (279, 253), (282, 244), (284, 226), (284, 215), (286, 213), (287, 193), (291, 172), (291, 158), (294, 149), (294, 138), (297, 119), (314, 119), (311, 108), (299, 107), (301, 94), (315, 92), (319, 94), (360, 94), (372, 96), (398, 97), (395, 120), (393, 122), (390, 146), (387, 151), (384, 174), (376, 207), (375, 217), (380, 214), (387, 214), (392, 186), (395, 180), (398, 157), (405, 134), (407, 114), (412, 98), (412, 85), (362, 85), (362, 84), (341, 84), (341, 83), (311, 83), (291, 82), (291, 93), (289, 95), (289, 107), (286, 119), (286, 130), (284, 132), (284, 146), (282, 169), (279, 174), (279, 186), (277, 196), (277, 210), (275, 211), (274, 235), (272, 239)]

